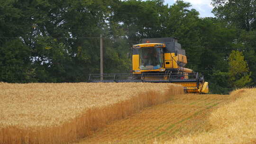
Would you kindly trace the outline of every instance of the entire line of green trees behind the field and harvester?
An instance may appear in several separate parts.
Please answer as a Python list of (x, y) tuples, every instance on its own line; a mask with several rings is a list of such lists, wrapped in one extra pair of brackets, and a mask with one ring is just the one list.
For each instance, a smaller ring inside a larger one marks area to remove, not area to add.
[(127, 56), (142, 38), (177, 37), (186, 67), (212, 93), (256, 84), (256, 0), (212, 0), (200, 18), (177, 0), (0, 0), (0, 81), (82, 82), (100, 72), (130, 72)]

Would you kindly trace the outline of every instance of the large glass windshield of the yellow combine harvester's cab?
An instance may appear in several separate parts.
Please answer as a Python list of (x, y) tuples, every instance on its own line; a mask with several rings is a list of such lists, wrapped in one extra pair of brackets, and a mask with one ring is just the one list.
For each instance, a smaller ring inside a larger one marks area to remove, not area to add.
[(139, 69), (156, 70), (163, 65), (162, 48), (140, 48), (139, 49)]

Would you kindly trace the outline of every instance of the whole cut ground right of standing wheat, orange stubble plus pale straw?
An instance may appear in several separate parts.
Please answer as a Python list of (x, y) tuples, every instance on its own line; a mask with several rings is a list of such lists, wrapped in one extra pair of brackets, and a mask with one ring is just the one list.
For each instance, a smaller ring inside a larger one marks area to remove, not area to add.
[(79, 144), (256, 144), (256, 89), (176, 95)]

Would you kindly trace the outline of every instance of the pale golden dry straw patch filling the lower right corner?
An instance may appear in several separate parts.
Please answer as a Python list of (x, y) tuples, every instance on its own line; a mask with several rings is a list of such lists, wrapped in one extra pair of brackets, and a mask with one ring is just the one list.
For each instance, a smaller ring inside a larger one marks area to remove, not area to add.
[(211, 132), (173, 139), (165, 144), (256, 144), (256, 89), (231, 93), (241, 98), (212, 112)]

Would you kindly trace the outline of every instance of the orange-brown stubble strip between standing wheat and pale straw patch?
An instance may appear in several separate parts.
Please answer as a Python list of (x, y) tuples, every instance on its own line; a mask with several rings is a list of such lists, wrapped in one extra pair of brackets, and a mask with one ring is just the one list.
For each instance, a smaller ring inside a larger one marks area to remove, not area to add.
[(210, 131), (207, 118), (211, 111), (235, 99), (230, 95), (210, 94), (173, 96), (164, 104), (112, 122), (75, 144), (146, 144)]

